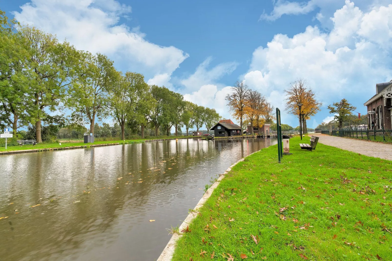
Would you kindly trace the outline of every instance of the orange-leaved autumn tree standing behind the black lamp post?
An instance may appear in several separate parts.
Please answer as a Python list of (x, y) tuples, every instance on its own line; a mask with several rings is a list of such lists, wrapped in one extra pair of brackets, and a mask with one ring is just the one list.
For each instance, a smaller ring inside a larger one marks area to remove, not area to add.
[(322, 103), (316, 100), (316, 94), (307, 87), (306, 81), (299, 79), (292, 82), (290, 88), (285, 90), (286, 92), (286, 111), (289, 113), (299, 116), (298, 104), (302, 103), (301, 107), (301, 119), (299, 124), (302, 124), (303, 133), (307, 133), (306, 120), (309, 120), (311, 116), (314, 116), (321, 109)]

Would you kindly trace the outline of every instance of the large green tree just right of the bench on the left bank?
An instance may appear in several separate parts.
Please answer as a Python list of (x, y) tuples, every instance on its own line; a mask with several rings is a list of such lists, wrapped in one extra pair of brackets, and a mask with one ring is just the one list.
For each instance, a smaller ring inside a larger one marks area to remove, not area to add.
[(58, 43), (52, 34), (34, 27), (21, 27), (20, 33), (29, 49), (29, 78), (31, 98), (27, 113), (29, 121), (35, 124), (36, 141), (42, 142), (41, 121), (47, 110), (55, 111), (64, 98), (66, 89), (73, 86), (74, 69), (78, 64), (78, 52), (67, 42)]

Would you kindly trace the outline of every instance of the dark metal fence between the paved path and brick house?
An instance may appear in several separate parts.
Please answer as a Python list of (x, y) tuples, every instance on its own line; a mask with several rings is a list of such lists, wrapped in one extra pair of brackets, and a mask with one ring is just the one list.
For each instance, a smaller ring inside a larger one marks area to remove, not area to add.
[[(329, 130), (321, 133), (330, 135)], [(332, 130), (332, 136), (392, 142), (392, 130)]]

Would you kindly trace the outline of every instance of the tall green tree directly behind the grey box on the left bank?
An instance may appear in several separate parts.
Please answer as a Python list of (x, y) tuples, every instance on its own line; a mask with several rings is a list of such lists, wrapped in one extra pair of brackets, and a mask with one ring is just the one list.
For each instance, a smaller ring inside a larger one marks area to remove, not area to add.
[(119, 74), (106, 55), (80, 52), (80, 66), (76, 79), (78, 84), (69, 89), (68, 104), (75, 109), (74, 119), (87, 119), (90, 133), (94, 135), (96, 117), (104, 116), (109, 103), (108, 91), (116, 83)]

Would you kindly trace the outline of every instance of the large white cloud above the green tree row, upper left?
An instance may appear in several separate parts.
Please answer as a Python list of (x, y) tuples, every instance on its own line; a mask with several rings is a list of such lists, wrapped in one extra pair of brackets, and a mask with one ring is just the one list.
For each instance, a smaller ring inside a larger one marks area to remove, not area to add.
[(168, 82), (189, 56), (174, 46), (149, 42), (138, 27), (119, 24), (131, 7), (115, 0), (31, 0), (20, 8), (14, 15), (22, 24), (56, 34), (78, 49), (107, 54), (117, 67), (142, 72), (154, 83)]

